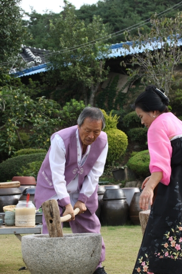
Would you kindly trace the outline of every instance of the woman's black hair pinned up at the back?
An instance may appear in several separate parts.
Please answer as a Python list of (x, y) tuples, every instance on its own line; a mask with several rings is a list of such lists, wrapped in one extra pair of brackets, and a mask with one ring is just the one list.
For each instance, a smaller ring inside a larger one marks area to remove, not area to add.
[(169, 98), (164, 94), (164, 90), (150, 85), (136, 98), (132, 108), (140, 108), (145, 112), (159, 111), (163, 113), (168, 112), (168, 105)]

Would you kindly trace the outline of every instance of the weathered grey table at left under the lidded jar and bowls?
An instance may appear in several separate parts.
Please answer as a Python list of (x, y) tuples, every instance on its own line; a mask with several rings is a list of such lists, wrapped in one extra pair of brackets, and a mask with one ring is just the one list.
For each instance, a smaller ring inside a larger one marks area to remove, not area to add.
[(33, 227), (18, 227), (18, 226), (6, 226), (0, 227), (0, 234), (15, 234), (21, 241), (22, 236), (20, 234), (41, 234), (42, 224), (35, 225)]

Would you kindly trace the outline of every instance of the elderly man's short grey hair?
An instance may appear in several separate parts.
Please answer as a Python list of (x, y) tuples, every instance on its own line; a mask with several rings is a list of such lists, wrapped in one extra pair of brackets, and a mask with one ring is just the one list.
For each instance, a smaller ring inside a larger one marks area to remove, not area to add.
[(98, 108), (86, 107), (80, 113), (77, 124), (79, 127), (83, 124), (85, 118), (90, 118), (90, 120), (94, 121), (102, 121), (102, 130), (105, 128), (106, 122), (102, 111)]

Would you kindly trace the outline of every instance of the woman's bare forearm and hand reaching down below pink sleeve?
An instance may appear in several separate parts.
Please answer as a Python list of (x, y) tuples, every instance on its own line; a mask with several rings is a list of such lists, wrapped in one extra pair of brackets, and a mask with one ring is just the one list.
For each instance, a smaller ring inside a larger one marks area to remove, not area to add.
[(163, 177), (162, 172), (153, 172), (147, 177), (142, 184), (142, 193), (139, 200), (139, 205), (142, 210), (148, 210), (149, 204), (152, 205), (154, 196), (154, 188), (158, 185)]

